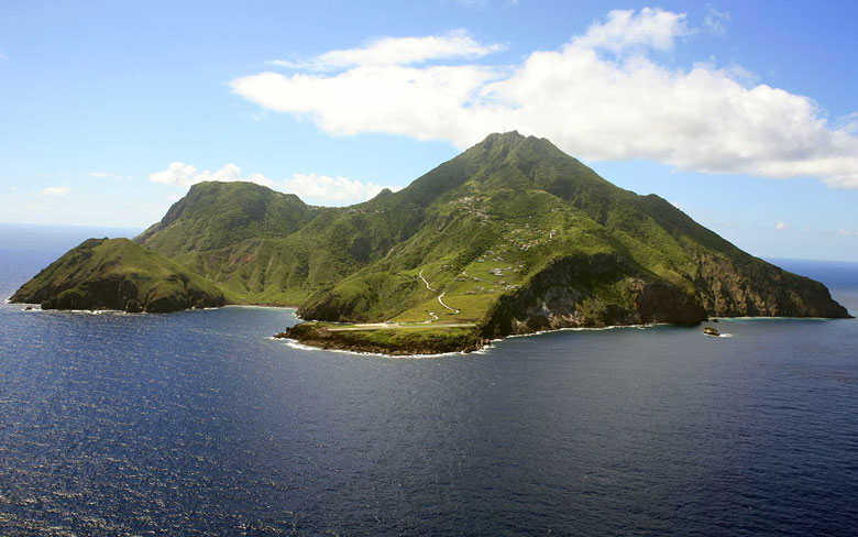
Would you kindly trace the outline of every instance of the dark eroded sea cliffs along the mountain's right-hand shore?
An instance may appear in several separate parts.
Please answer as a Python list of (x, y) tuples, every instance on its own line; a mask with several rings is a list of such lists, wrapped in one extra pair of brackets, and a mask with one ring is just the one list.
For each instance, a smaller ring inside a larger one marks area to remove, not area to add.
[[(691, 284), (691, 282), (689, 282)], [(689, 289), (637, 270), (616, 254), (554, 261), (487, 316), (485, 337), (578, 327), (697, 325), (710, 316), (847, 318), (821, 283), (757, 261), (702, 257)]]

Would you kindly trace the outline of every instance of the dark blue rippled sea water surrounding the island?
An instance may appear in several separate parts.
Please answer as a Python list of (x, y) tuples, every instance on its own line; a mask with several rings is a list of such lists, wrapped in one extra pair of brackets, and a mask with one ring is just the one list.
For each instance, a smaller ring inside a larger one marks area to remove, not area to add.
[[(0, 296), (105, 230), (0, 228)], [(776, 260), (855, 314), (858, 265)], [(858, 321), (387, 359), (0, 306), (0, 535), (855, 535)]]

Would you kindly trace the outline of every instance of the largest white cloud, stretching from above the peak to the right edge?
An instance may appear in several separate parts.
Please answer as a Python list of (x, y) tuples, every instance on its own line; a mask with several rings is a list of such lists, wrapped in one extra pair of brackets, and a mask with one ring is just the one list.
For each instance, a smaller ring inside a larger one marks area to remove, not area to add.
[(854, 124), (832, 127), (811, 98), (754, 85), (736, 66), (681, 69), (648, 55), (690, 32), (682, 13), (612, 11), (584, 35), (515, 66), (402, 65), (427, 57), (417, 54), (375, 62), (367, 59), (370, 46), (337, 51), (339, 58), (364, 62), (337, 73), (267, 72), (230, 85), (264, 109), (334, 134), (392, 133), (463, 149), (518, 129), (585, 160), (648, 158), (688, 171), (815, 176), (829, 187), (858, 188)]

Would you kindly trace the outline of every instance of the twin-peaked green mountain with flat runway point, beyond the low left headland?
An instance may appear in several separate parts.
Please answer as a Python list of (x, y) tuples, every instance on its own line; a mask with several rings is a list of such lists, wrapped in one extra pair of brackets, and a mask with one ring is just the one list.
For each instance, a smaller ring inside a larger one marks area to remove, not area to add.
[(461, 348), (463, 331), (482, 339), (708, 316), (848, 316), (822, 284), (516, 132), (492, 134), (407, 188), (345, 208), (202, 183), (134, 241), (230, 303), (387, 322), (292, 330), (322, 346), (410, 352), (428, 340), (444, 348), (437, 341), (453, 332)]

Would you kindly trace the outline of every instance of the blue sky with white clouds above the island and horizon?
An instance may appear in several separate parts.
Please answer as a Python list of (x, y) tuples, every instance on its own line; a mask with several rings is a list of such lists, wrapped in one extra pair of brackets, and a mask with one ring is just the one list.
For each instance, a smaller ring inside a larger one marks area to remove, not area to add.
[(858, 261), (858, 3), (0, 0), (0, 222), (144, 228), (200, 180), (342, 206), (492, 132), (744, 250)]

